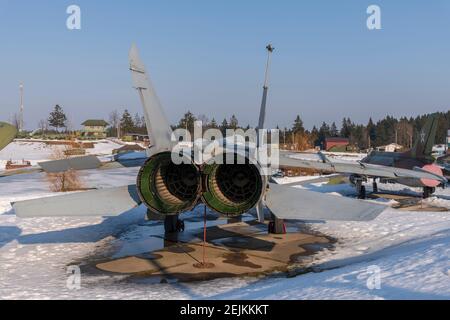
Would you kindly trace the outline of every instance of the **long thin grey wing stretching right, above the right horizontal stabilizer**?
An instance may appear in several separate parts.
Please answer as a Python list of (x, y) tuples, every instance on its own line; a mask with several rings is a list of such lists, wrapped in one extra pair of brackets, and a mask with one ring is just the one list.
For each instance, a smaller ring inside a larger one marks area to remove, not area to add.
[[(297, 155), (297, 156), (296, 156)], [(415, 168), (414, 170), (387, 167), (375, 164), (367, 164), (361, 162), (330, 161), (323, 154), (320, 154), (321, 161), (300, 159), (298, 154), (289, 152), (280, 152), (280, 166), (315, 169), (321, 171), (335, 172), (335, 173), (349, 173), (358, 174), (367, 177), (388, 178), (388, 179), (431, 179), (440, 181), (446, 184), (448, 181), (445, 177)]]

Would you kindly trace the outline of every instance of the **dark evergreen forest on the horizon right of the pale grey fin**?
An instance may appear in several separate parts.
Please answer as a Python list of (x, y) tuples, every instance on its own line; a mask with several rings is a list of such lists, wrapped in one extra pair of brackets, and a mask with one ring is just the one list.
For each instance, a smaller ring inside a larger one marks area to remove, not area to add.
[[(280, 143), (296, 144), (297, 149), (304, 150), (316, 146), (322, 146), (328, 137), (340, 137), (349, 140), (350, 145), (357, 149), (369, 149), (390, 143), (397, 143), (405, 148), (411, 148), (417, 132), (425, 125), (428, 114), (417, 117), (386, 116), (374, 122), (369, 118), (367, 124), (358, 124), (350, 117), (344, 117), (340, 124), (323, 121), (320, 126), (314, 125), (311, 130), (305, 129), (300, 115), (294, 119), (290, 128), (280, 128)], [(229, 119), (223, 119), (218, 123), (215, 118), (209, 120), (205, 115), (195, 116), (192, 112), (186, 112), (172, 129), (185, 128), (191, 133), (194, 130), (194, 122), (201, 120), (205, 129), (215, 128), (225, 134), (227, 129), (249, 129), (250, 125), (241, 126), (237, 117), (232, 115)], [(438, 130), (436, 143), (446, 143), (447, 130), (450, 129), (450, 111), (438, 112)]]

